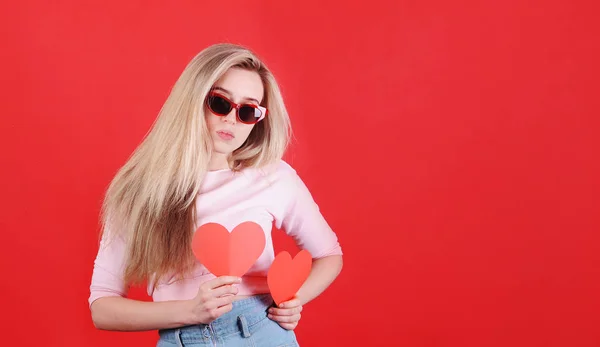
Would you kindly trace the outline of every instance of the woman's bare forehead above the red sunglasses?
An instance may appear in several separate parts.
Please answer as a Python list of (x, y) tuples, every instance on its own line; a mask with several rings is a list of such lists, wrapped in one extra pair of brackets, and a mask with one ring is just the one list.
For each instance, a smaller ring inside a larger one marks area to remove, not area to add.
[(262, 101), (264, 87), (258, 73), (239, 68), (229, 69), (213, 86), (225, 90), (233, 101), (254, 99)]

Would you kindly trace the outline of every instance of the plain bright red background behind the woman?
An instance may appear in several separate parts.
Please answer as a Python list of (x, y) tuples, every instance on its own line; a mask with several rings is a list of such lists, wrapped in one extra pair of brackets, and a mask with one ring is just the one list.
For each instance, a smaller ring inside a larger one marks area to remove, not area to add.
[(220, 3), (0, 5), (2, 344), (155, 343), (92, 325), (102, 193), (229, 41), (281, 83), (346, 254), (303, 346), (600, 345), (594, 1)]

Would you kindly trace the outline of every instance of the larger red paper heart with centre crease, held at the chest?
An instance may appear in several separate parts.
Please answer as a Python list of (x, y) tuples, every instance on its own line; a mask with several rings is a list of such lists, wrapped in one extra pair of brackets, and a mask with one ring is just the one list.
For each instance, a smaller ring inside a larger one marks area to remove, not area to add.
[(218, 223), (200, 226), (192, 240), (196, 258), (215, 276), (243, 276), (265, 248), (260, 225), (244, 222), (231, 233)]

